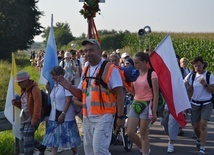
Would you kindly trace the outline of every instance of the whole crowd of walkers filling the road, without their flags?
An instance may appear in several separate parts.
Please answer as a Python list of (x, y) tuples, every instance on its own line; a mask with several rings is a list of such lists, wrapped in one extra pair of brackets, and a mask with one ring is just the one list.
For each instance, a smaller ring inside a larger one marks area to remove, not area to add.
[[(78, 114), (82, 120), (85, 154), (110, 155), (113, 126), (124, 126), (124, 99), (126, 94), (132, 94), (134, 98), (132, 108), (127, 114), (126, 132), (138, 146), (139, 154), (149, 155), (152, 152), (149, 145), (149, 126), (157, 120), (159, 98), (158, 76), (155, 71), (151, 73), (152, 87), (147, 81), (151, 52), (137, 52), (133, 57), (128, 52), (121, 53), (119, 49), (112, 53), (102, 52), (100, 43), (95, 39), (84, 40), (82, 45), (84, 49), (81, 50), (58, 52), (59, 66), (50, 71), (55, 85), (52, 90), (46, 85), (51, 99), (51, 113), (43, 142), (38, 146), (34, 140), (34, 132), (42, 115), (39, 88), (35, 81), (30, 80), (28, 73), (17, 74), (16, 82), (22, 89), (22, 95), (20, 99), (13, 100), (13, 104), (22, 109), (20, 116), (24, 153), (30, 155), (36, 147), (40, 154), (44, 154), (46, 147), (50, 147), (53, 155), (57, 154), (58, 148), (71, 148), (72, 154), (77, 155), (77, 148), (81, 145), (75, 120), (75, 115)], [(191, 114), (198, 155), (205, 155), (207, 124), (213, 108), (214, 76), (206, 71), (207, 63), (201, 56), (191, 61), (189, 66), (192, 69), (187, 67), (187, 58), (180, 59), (176, 56), (192, 106), (183, 114)], [(31, 59), (34, 59), (31, 61), (41, 71), (44, 52), (39, 51), (38, 56), (34, 53)], [(134, 82), (128, 82), (124, 76), (122, 68), (129, 66), (139, 71)], [(77, 107), (82, 110), (77, 112)], [(172, 153), (175, 151), (177, 136), (184, 131), (171, 115), (167, 104), (161, 125), (169, 136), (166, 152)]]

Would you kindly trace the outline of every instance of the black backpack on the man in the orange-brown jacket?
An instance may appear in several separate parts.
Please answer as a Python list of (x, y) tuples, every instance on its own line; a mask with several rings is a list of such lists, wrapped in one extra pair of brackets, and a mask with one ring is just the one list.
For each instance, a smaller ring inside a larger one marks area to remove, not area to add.
[[(31, 94), (32, 94), (32, 89), (33, 87), (31, 87)], [(50, 112), (51, 112), (51, 104), (50, 104), (50, 96), (43, 90), (41, 90), (41, 94), (42, 94), (42, 109), (44, 111), (42, 117), (47, 117), (50, 116)]]

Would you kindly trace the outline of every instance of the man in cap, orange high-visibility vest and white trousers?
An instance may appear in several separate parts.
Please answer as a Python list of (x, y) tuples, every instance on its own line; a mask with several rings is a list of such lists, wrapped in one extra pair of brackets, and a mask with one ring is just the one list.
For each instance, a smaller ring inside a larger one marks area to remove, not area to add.
[(82, 100), (85, 154), (110, 155), (109, 146), (115, 113), (118, 116), (116, 120), (118, 127), (125, 123), (123, 83), (119, 71), (109, 62), (104, 68), (105, 76), (102, 76), (108, 88), (97, 83), (95, 78), (104, 62), (101, 57), (100, 43), (95, 39), (87, 39), (82, 42), (82, 45), (89, 64), (84, 68), (78, 88), (72, 86), (62, 76), (59, 77), (59, 81), (74, 96)]

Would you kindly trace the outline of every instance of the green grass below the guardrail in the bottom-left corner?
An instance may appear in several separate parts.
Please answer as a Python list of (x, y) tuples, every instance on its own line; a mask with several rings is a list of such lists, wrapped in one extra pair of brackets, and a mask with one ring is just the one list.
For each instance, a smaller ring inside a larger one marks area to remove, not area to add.
[(0, 132), (0, 155), (13, 154), (14, 143), (14, 136), (11, 130)]

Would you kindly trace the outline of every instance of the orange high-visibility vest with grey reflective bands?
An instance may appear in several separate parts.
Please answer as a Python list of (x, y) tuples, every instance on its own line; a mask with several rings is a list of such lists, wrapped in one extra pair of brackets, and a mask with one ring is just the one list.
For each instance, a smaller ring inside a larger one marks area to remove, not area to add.
[[(87, 67), (84, 67), (83, 75), (89, 77), (89, 71), (87, 71)], [(114, 65), (111, 63), (107, 63), (101, 78), (103, 81), (108, 84), (110, 80), (110, 76)], [(87, 73), (86, 73), (87, 71)], [(99, 69), (95, 73), (96, 75), (99, 73)], [(116, 96), (109, 89), (105, 89), (101, 84), (96, 85), (95, 80), (91, 80), (91, 91), (87, 92), (87, 78), (83, 77), (82, 83), (82, 103), (83, 103), (83, 115), (87, 116), (87, 108), (90, 108), (90, 113), (93, 115), (102, 115), (106, 113), (115, 114), (116, 113)], [(86, 107), (86, 97), (87, 94), (91, 95), (91, 107)]]

